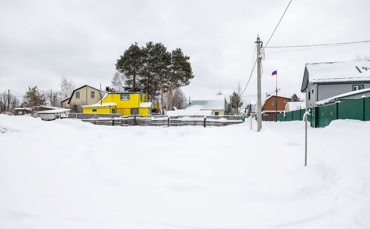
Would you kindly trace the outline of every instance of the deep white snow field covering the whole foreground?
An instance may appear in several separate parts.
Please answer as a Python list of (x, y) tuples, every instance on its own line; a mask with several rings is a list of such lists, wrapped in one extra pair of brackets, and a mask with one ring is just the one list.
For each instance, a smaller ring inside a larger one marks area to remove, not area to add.
[(370, 228), (370, 122), (0, 130), (1, 229)]

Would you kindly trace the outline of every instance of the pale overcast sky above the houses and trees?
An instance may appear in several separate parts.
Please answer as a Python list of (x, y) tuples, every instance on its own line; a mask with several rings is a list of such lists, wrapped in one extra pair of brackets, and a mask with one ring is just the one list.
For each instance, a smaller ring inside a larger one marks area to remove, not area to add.
[[(105, 88), (130, 44), (153, 41), (190, 56), (195, 78), (186, 96), (228, 96), (238, 82), (245, 87), (257, 34), (266, 44), (288, 3), (1, 0), (0, 91), (59, 90), (62, 75)], [(369, 8), (369, 0), (293, 0), (268, 46), (370, 40)], [(266, 48), (263, 93), (275, 90), (277, 69), (279, 95), (301, 95), (306, 63), (351, 61), (370, 55), (370, 43), (278, 52), (287, 50)], [(256, 95), (256, 71), (244, 95)]]

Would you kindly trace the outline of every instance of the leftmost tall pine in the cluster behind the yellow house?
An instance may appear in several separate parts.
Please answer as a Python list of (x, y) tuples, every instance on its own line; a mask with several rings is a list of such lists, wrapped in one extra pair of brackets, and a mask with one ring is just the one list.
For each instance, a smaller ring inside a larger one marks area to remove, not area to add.
[(123, 73), (127, 80), (127, 85), (132, 83), (132, 86), (125, 87), (125, 90), (132, 92), (140, 90), (140, 85), (136, 85), (136, 75), (140, 71), (142, 66), (143, 51), (138, 46), (138, 43), (131, 44), (131, 46), (125, 50), (124, 54), (120, 56), (120, 59), (117, 59), (115, 64), (118, 72)]

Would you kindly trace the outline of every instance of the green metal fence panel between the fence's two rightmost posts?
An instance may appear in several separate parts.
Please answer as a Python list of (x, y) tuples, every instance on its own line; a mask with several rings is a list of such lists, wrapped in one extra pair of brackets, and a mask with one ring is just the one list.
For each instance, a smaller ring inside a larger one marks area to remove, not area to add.
[(340, 102), (337, 104), (337, 119), (363, 120), (364, 104), (362, 99)]

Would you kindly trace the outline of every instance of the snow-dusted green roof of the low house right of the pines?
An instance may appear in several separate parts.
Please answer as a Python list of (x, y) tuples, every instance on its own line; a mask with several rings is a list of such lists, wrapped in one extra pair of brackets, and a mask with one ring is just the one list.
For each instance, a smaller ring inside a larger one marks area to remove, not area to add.
[(186, 109), (189, 110), (223, 110), (225, 109), (225, 96), (207, 96), (207, 99), (192, 99), (186, 101)]

